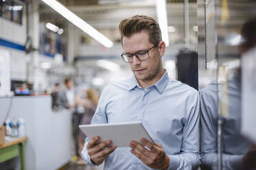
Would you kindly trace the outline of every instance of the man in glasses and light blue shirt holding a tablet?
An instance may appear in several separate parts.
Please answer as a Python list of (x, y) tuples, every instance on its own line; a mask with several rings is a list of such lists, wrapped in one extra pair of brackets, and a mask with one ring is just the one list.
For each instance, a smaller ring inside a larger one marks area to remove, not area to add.
[(105, 160), (105, 169), (198, 169), (198, 91), (169, 79), (162, 66), (165, 43), (154, 19), (136, 15), (119, 29), (122, 59), (134, 75), (103, 90), (92, 124), (141, 121), (155, 144), (141, 138), (130, 141), (130, 148), (107, 147), (111, 138), (98, 144), (94, 136), (86, 138), (83, 158), (89, 165)]

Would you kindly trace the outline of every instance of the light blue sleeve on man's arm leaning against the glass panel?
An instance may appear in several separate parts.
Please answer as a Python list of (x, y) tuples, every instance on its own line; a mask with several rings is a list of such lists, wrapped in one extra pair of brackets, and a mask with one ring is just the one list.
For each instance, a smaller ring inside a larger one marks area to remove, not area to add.
[(193, 90), (193, 94), (188, 100), (188, 119), (184, 124), (181, 153), (178, 155), (168, 155), (170, 165), (168, 170), (198, 169), (200, 165), (200, 99), (198, 91)]

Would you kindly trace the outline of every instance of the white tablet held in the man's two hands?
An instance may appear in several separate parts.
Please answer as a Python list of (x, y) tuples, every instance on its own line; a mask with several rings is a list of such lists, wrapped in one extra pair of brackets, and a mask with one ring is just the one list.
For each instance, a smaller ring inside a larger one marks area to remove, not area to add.
[(140, 121), (79, 125), (79, 127), (89, 138), (100, 136), (100, 141), (111, 140), (111, 145), (116, 145), (117, 147), (129, 147), (130, 141), (140, 142), (140, 138), (146, 138), (153, 143)]

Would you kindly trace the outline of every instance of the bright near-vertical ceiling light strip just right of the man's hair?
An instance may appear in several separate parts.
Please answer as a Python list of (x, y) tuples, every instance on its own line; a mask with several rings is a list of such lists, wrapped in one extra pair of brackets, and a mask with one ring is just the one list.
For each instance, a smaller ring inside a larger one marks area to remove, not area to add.
[(166, 0), (156, 0), (156, 14), (158, 23), (162, 32), (162, 40), (165, 45), (169, 45), (168, 27), (167, 27), (167, 2)]

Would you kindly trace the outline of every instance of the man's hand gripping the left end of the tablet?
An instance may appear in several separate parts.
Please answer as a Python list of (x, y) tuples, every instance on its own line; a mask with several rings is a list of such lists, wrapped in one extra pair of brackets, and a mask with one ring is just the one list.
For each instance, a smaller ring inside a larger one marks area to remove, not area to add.
[(96, 144), (99, 139), (99, 136), (94, 136), (87, 145), (87, 152), (92, 162), (97, 165), (100, 165), (116, 149), (116, 146), (109, 146), (111, 144), (110, 140)]

